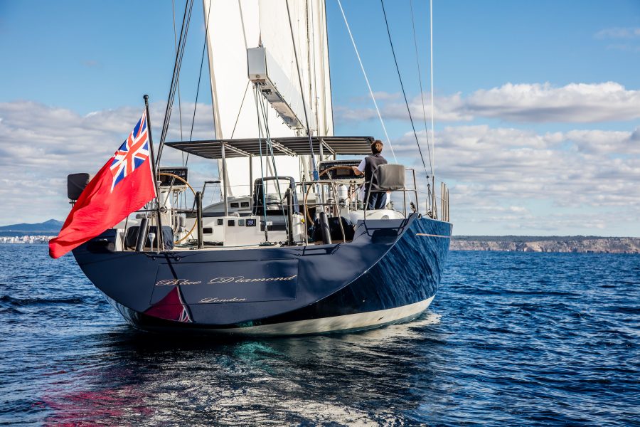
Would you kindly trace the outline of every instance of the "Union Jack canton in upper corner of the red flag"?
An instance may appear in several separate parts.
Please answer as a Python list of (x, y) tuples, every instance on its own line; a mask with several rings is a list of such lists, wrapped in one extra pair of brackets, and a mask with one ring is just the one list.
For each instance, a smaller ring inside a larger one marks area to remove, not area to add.
[(146, 112), (142, 114), (134, 130), (117, 149), (111, 163), (113, 181), (111, 191), (128, 174), (141, 166), (149, 158), (149, 132), (146, 129)]

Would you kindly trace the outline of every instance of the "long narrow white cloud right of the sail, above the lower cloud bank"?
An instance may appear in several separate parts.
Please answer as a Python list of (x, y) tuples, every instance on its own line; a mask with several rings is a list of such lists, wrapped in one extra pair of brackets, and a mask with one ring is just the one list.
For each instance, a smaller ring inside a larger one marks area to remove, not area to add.
[[(427, 122), (431, 117), (430, 95), (425, 94)], [(408, 120), (404, 103), (381, 102), (385, 120)], [(409, 102), (417, 128), (424, 121), (422, 97)], [(462, 122), (478, 117), (494, 118), (506, 122), (572, 122), (593, 123), (628, 121), (640, 118), (640, 90), (627, 90), (619, 83), (570, 83), (555, 87), (550, 83), (512, 84), (499, 88), (476, 90), (471, 95), (456, 93), (436, 97), (435, 119), (439, 122)], [(336, 108), (338, 122), (368, 120), (375, 110)]]

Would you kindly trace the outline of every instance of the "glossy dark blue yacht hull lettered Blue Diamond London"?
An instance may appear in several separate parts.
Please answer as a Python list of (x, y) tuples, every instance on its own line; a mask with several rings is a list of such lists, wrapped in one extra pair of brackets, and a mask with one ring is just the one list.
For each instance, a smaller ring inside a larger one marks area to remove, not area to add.
[(350, 243), (159, 254), (88, 243), (74, 255), (140, 329), (330, 332), (419, 315), (437, 292), (451, 232), (414, 214), (359, 223)]

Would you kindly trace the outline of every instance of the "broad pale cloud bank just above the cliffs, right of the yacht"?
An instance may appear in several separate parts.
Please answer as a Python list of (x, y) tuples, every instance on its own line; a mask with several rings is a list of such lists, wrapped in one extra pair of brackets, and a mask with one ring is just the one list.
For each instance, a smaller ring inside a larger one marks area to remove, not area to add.
[[(582, 218), (582, 231), (575, 233), (585, 233), (597, 224), (621, 223), (624, 214), (631, 224), (626, 233), (638, 234), (639, 134), (574, 130), (540, 135), (486, 125), (447, 127), (437, 133), (436, 174), (449, 183), (452, 218), (467, 226), (479, 222), (562, 233), (569, 224), (577, 229)], [(424, 136), (421, 132), (428, 160)], [(401, 162), (422, 170), (412, 132), (393, 145)], [(592, 221), (597, 212), (602, 218)], [(552, 221), (550, 214), (558, 215)]]

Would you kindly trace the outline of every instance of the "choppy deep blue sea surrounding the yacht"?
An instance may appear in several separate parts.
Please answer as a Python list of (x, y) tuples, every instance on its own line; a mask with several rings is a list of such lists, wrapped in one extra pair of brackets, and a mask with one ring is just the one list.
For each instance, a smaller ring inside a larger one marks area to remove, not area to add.
[(176, 342), (0, 245), (0, 424), (639, 425), (639, 315), (638, 255), (454, 252), (410, 324)]

